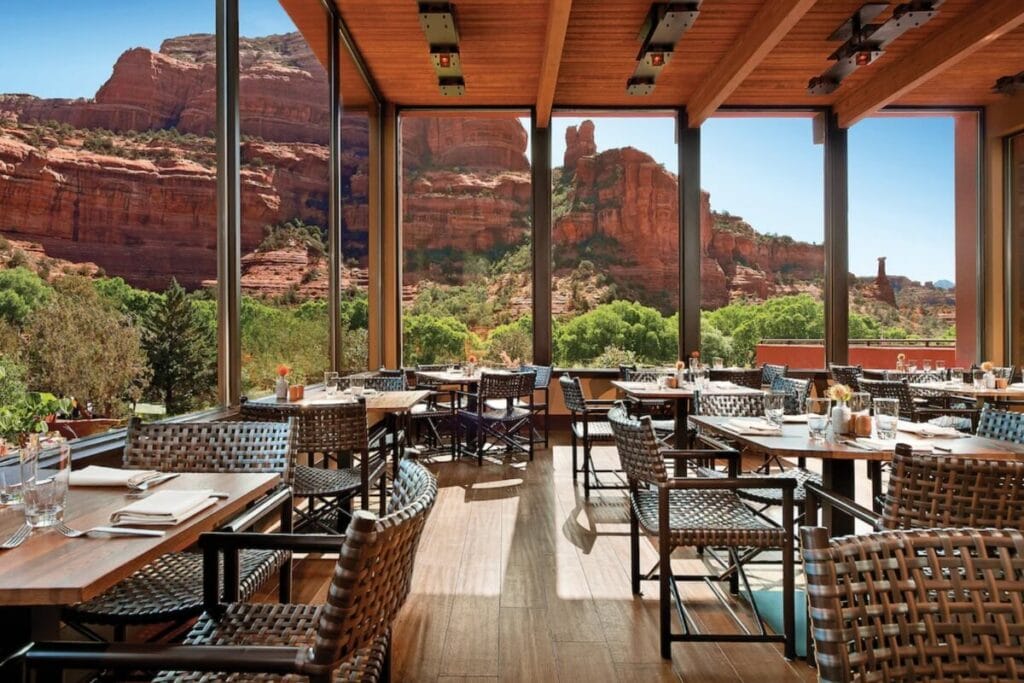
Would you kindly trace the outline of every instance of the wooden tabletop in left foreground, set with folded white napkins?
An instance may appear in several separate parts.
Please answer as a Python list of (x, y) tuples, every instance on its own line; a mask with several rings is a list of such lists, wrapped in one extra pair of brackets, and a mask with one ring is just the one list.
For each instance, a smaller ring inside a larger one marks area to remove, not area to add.
[[(99, 595), (157, 557), (183, 550), (199, 535), (238, 516), (281, 481), (278, 474), (183, 473), (157, 490), (211, 488), (230, 495), (176, 526), (153, 526), (163, 537), (68, 539), (36, 529), (12, 550), (0, 550), (0, 604), (67, 605)], [(65, 522), (78, 529), (110, 524), (111, 513), (132, 502), (120, 487), (72, 486)], [(25, 520), (22, 507), (0, 509), (0, 539)]]

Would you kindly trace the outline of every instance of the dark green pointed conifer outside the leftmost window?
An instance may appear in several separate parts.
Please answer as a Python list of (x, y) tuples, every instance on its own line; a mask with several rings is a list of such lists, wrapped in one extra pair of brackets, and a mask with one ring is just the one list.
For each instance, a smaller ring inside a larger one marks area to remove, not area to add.
[(216, 383), (217, 354), (184, 289), (171, 280), (142, 323), (142, 348), (153, 378), (150, 393), (170, 415), (194, 410)]

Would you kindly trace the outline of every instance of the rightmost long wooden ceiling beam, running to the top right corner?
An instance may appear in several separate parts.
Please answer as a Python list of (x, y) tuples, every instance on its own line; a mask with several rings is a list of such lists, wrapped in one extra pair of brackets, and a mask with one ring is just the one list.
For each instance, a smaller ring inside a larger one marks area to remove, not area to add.
[(839, 125), (849, 128), (941, 74), (972, 52), (1024, 25), (1024, 1), (986, 0), (964, 10), (906, 56), (880, 69), (835, 104)]

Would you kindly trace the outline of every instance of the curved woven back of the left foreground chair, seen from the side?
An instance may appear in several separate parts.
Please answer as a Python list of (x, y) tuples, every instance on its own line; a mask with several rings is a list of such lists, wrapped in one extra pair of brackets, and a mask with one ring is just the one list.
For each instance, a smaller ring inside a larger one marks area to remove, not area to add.
[(402, 460), (384, 517), (358, 510), (345, 531), (327, 604), (306, 665), (322, 674), (384, 636), (409, 597), (417, 547), (437, 499), (437, 481)]

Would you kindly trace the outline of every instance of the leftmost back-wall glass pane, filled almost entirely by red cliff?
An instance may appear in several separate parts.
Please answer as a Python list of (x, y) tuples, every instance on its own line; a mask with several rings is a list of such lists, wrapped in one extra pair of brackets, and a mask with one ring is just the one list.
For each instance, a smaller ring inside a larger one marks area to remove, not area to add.
[(403, 116), (402, 358), (532, 358), (529, 120)]

